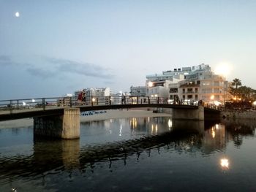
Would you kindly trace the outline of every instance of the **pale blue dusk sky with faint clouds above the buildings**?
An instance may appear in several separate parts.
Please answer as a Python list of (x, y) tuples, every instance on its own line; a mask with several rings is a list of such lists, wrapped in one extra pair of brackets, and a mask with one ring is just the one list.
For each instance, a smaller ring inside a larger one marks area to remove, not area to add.
[(256, 1), (0, 0), (0, 100), (129, 92), (199, 64), (256, 89)]

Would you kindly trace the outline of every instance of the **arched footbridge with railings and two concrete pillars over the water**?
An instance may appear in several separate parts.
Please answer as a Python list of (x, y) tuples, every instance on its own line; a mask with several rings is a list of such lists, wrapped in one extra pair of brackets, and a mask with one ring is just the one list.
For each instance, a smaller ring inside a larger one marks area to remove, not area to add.
[(176, 120), (206, 120), (219, 118), (219, 110), (201, 104), (170, 103), (159, 97), (111, 96), (90, 101), (77, 101), (72, 97), (12, 99), (0, 101), (0, 121), (34, 118), (34, 134), (61, 139), (80, 137), (80, 112), (92, 110), (117, 110), (129, 108), (155, 108), (172, 110)]

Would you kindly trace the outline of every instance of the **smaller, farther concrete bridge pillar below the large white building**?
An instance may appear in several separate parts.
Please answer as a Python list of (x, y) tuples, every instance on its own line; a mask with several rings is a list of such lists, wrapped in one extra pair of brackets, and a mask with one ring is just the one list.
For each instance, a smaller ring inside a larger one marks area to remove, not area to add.
[(173, 119), (177, 120), (204, 120), (204, 107), (198, 106), (198, 109), (173, 109)]

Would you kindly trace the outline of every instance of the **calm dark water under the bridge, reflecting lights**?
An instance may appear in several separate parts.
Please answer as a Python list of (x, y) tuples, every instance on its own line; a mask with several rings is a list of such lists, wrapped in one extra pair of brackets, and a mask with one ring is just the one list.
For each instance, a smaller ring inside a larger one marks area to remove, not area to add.
[(255, 122), (128, 118), (80, 139), (0, 129), (0, 191), (256, 191)]

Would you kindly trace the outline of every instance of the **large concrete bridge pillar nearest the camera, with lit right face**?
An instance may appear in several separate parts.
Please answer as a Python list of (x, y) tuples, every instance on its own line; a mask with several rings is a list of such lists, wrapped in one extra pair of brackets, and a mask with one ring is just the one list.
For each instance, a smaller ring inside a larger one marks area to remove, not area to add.
[(80, 109), (66, 108), (64, 115), (34, 118), (34, 135), (77, 139), (80, 137)]

